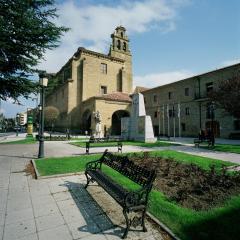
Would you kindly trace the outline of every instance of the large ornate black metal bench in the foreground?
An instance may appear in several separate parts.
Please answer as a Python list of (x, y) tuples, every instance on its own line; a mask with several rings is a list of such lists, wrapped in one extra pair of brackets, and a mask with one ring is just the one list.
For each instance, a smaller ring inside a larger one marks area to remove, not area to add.
[[(140, 185), (141, 188), (137, 191), (130, 191), (122, 187), (102, 172), (102, 164), (113, 168)], [(148, 196), (156, 177), (155, 170), (147, 170), (134, 164), (127, 156), (113, 155), (106, 149), (99, 160), (86, 164), (85, 175), (87, 178), (85, 188), (87, 188), (90, 182), (97, 182), (123, 208), (126, 229), (122, 238), (127, 236), (130, 226), (136, 228), (138, 225), (141, 225), (143, 231), (147, 231), (144, 218), (147, 210)], [(134, 216), (132, 219), (129, 219), (128, 213), (130, 212), (140, 212), (141, 215), (140, 217)]]

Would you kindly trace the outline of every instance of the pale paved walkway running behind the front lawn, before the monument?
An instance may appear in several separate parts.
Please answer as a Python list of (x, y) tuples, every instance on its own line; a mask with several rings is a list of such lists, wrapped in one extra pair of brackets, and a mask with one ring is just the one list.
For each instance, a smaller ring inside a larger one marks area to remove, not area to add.
[[(8, 136), (4, 141), (23, 139), (25, 134), (20, 134), (18, 137), (11, 135)], [(146, 147), (138, 147), (138, 146), (123, 146), (123, 152), (140, 152), (140, 151), (153, 151), (153, 150), (176, 150), (189, 154), (194, 154), (202, 157), (209, 157), (213, 159), (219, 159), (223, 161), (233, 162), (240, 164), (240, 154), (236, 153), (225, 153), (214, 151), (205, 148), (195, 148), (192, 144), (192, 138), (176, 138), (175, 143), (180, 143), (182, 146), (169, 146), (169, 147), (154, 147), (154, 148), (146, 148)], [(1, 138), (0, 138), (1, 142)], [(218, 143), (225, 144), (239, 144), (240, 140), (228, 140), (228, 139), (217, 139)], [(9, 152), (11, 152), (11, 148), (16, 145), (5, 145), (5, 148), (9, 148)], [(27, 145), (22, 145), (25, 148)], [(34, 157), (37, 157), (38, 152), (38, 143), (31, 144), (32, 153)], [(66, 141), (45, 141), (45, 157), (64, 157), (64, 156), (77, 156), (81, 154), (85, 154), (85, 148), (76, 147), (74, 145), (69, 144)], [(90, 153), (102, 153), (105, 149), (109, 149), (109, 151), (117, 152), (117, 147), (95, 147), (90, 149)], [(23, 151), (23, 155), (25, 152)]]

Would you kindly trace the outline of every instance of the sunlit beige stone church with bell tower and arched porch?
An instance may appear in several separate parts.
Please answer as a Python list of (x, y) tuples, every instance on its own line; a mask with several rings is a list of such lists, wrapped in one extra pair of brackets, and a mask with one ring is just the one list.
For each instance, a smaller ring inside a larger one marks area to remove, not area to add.
[(99, 111), (104, 134), (120, 134), (121, 117), (129, 116), (132, 93), (132, 55), (126, 29), (111, 35), (109, 54), (78, 48), (56, 74), (49, 74), (46, 106), (60, 111), (57, 128), (89, 133)]

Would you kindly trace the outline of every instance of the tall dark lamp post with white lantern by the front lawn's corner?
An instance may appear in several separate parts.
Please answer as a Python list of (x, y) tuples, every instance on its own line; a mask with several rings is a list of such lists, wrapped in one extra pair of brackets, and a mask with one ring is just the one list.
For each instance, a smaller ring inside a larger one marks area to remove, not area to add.
[(44, 91), (45, 87), (47, 87), (48, 79), (43, 76), (39, 76), (39, 84), (40, 84), (40, 125), (39, 125), (39, 151), (38, 158), (44, 158)]

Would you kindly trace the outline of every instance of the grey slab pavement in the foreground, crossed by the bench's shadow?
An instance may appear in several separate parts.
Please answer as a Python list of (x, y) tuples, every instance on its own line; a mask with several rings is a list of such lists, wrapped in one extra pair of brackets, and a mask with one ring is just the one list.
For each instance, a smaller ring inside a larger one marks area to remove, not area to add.
[[(86, 191), (85, 176), (34, 180), (26, 175), (36, 150), (36, 144), (0, 145), (0, 239), (120, 239), (121, 208), (98, 186)], [(146, 225), (147, 233), (130, 231), (127, 239), (163, 239), (154, 225)]]

